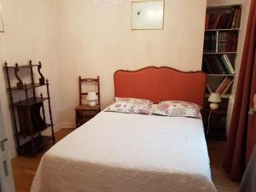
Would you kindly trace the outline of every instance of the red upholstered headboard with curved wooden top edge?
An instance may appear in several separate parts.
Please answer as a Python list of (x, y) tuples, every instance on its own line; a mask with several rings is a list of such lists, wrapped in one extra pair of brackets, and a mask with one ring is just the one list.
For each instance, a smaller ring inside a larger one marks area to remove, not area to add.
[(118, 70), (113, 75), (115, 96), (148, 99), (153, 102), (178, 100), (203, 107), (206, 74), (182, 72), (171, 67)]

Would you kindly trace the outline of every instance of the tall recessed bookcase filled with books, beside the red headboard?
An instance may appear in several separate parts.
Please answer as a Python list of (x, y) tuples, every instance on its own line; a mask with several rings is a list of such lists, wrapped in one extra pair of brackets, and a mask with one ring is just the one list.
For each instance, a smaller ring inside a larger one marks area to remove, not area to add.
[(218, 92), (222, 98), (218, 110), (211, 112), (213, 115), (220, 116), (219, 122), (215, 125), (218, 130), (213, 133), (214, 137), (225, 137), (226, 112), (236, 76), (240, 22), (241, 4), (207, 7), (202, 58), (202, 71), (207, 73), (205, 105), (207, 117), (210, 112), (209, 102), (207, 102), (210, 93)]

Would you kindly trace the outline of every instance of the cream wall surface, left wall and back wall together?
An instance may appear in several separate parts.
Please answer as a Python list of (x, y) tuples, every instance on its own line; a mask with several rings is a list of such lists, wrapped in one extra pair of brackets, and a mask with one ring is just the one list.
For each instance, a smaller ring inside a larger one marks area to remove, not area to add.
[[(200, 70), (206, 0), (166, 0), (160, 31), (131, 31), (131, 1), (106, 6), (93, 0), (1, 0), (6, 28), (0, 58), (42, 61), (51, 83), (55, 124), (74, 123), (78, 76), (101, 76), (103, 107), (113, 102), (117, 69), (170, 66)], [(4, 125), (13, 143), (8, 97), (0, 72)]]

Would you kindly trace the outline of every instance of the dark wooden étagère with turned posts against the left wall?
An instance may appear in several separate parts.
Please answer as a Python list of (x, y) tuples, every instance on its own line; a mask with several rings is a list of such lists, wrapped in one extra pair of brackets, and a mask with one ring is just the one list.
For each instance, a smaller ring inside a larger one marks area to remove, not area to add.
[[(34, 81), (34, 67), (38, 68), (38, 74), (40, 76), (38, 83), (35, 83)], [(19, 66), (18, 63), (16, 63), (15, 66), (9, 66), (5, 61), (3, 68), (6, 73), (7, 90), (9, 91), (9, 102), (18, 154), (26, 154), (27, 152), (35, 154), (38, 149), (44, 147), (46, 143), (45, 141), (49, 142), (49, 140), (52, 140), (52, 143), (55, 144), (54, 125), (49, 96), (49, 81), (48, 79), (44, 79), (44, 76), (40, 71), (42, 68), (41, 62), (39, 62), (38, 65), (33, 65), (32, 61), (29, 61), (28, 65)], [(20, 79), (20, 68), (24, 68), (24, 70), (27, 68), (27, 70), (30, 71), (31, 82), (29, 84), (23, 83)], [(11, 86), (10, 73), (15, 73), (15, 78), (17, 79), (16, 86)], [(42, 86), (46, 86), (46, 97), (44, 97), (42, 93), (40, 96), (37, 96), (36, 94), (36, 88)], [(15, 94), (20, 91), (24, 93), (25, 99), (14, 102)], [(32, 91), (32, 96), (29, 96), (29, 91)], [(46, 123), (44, 102), (48, 102), (49, 123)], [(42, 136), (41, 131), (45, 131), (49, 127), (51, 129), (51, 136)], [(26, 139), (25, 142), (24, 139)]]

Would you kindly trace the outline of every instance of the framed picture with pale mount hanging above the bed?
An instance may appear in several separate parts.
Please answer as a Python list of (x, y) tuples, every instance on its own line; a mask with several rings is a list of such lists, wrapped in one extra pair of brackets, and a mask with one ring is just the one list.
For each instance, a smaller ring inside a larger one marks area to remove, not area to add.
[(164, 0), (131, 2), (131, 29), (163, 29)]

